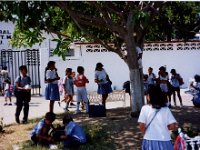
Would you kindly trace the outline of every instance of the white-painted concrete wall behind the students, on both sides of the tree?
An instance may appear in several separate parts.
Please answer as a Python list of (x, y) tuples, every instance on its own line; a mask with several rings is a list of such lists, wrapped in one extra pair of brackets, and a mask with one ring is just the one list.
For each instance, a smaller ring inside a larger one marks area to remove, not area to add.
[[(0, 30), (9, 30), (10, 33), (14, 30), (12, 23), (0, 22)], [(0, 34), (0, 49), (9, 49), (9, 39), (1, 39)], [(96, 91), (97, 85), (94, 83), (94, 70), (97, 62), (102, 62), (104, 68), (110, 75), (113, 81), (113, 87), (121, 89), (125, 81), (129, 80), (129, 71), (126, 63), (115, 53), (112, 52), (88, 52), (88, 45), (93, 46), (93, 50), (96, 44), (77, 44), (75, 46), (75, 57), (67, 57), (66, 61), (54, 56), (49, 57), (49, 49), (55, 48), (56, 43), (51, 42), (49, 39), (53, 37), (51, 35), (44, 34), (47, 37), (41, 45), (34, 45), (32, 48), (40, 48), (41, 59), (41, 85), (42, 93), (44, 93), (44, 70), (49, 60), (56, 61), (58, 68), (58, 74), (61, 77), (65, 75), (65, 69), (70, 67), (76, 71), (77, 66), (81, 65), (85, 68), (85, 75), (89, 78), (90, 83), (87, 88), (89, 91)], [(54, 35), (55, 36), (55, 35)], [(55, 36), (56, 37), (56, 36)], [(185, 50), (177, 50), (183, 48)], [(21, 48), (25, 49), (25, 48)], [(102, 50), (103, 48), (100, 47)], [(168, 50), (164, 50), (168, 49)], [(196, 49), (196, 50), (195, 50)], [(183, 87), (187, 87), (189, 79), (195, 74), (200, 74), (200, 41), (199, 42), (160, 42), (160, 43), (146, 43), (145, 50), (143, 52), (143, 72), (147, 73), (149, 66), (154, 68), (154, 73), (157, 74), (160, 66), (166, 66), (167, 71), (170, 72), (172, 68), (176, 69), (180, 73), (185, 81)]]

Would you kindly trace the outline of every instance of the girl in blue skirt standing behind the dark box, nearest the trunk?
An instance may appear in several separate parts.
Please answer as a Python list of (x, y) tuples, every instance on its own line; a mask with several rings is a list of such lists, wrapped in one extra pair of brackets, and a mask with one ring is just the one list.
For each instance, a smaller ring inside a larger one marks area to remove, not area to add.
[(98, 84), (97, 93), (102, 95), (102, 104), (106, 106), (106, 99), (108, 94), (112, 92), (112, 88), (111, 81), (102, 63), (96, 64), (95, 82)]

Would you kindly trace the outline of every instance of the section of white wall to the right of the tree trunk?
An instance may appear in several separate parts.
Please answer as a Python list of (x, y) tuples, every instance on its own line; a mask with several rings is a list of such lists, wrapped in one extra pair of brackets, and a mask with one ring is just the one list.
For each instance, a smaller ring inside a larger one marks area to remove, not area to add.
[[(184, 79), (184, 87), (189, 84), (189, 79), (193, 78), (195, 74), (200, 74), (200, 42), (173, 42), (173, 50), (154, 50), (143, 52), (143, 72), (147, 73), (148, 67), (154, 68), (154, 73), (158, 74), (160, 66), (166, 66), (170, 74), (171, 69), (176, 69)], [(158, 43), (156, 47), (161, 49), (160, 45), (168, 45), (168, 43)], [(149, 44), (148, 44), (149, 45)], [(154, 45), (154, 43), (150, 43)], [(186, 46), (187, 45), (187, 46)], [(147, 46), (147, 44), (145, 44)], [(166, 46), (167, 47), (167, 46)], [(182, 48), (183, 50), (177, 50)], [(187, 50), (184, 50), (187, 49)], [(196, 49), (196, 50), (195, 50)]]

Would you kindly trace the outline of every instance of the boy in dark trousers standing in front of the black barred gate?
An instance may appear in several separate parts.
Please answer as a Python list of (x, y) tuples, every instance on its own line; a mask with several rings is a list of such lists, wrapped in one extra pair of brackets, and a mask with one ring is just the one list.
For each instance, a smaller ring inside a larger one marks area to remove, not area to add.
[(28, 112), (29, 112), (29, 102), (31, 100), (31, 78), (27, 76), (27, 67), (25, 65), (22, 65), (19, 67), (20, 70), (20, 76), (18, 76), (15, 80), (16, 85), (16, 113), (15, 113), (15, 120), (19, 124), (19, 116), (20, 112), (22, 110), (22, 107), (24, 107), (24, 118), (22, 123), (27, 123), (28, 120)]

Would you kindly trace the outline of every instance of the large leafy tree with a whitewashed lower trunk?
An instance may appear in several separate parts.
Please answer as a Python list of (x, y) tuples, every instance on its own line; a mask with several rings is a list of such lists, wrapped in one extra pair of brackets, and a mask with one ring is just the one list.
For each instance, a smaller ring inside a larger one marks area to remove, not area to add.
[(198, 2), (0, 2), (0, 19), (16, 22), (13, 46), (41, 43), (46, 31), (58, 35), (55, 53), (63, 58), (69, 43), (82, 37), (117, 53), (129, 67), (134, 113), (144, 104), (136, 46), (143, 49), (145, 36), (147, 40), (193, 37), (199, 31), (198, 12)]

